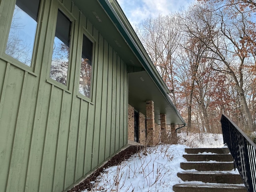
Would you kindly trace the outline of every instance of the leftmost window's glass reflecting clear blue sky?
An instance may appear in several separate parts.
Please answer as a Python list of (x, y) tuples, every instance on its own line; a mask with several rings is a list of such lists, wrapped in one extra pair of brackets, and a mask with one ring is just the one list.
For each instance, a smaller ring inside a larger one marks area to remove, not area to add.
[(40, 0), (17, 0), (5, 53), (31, 66)]

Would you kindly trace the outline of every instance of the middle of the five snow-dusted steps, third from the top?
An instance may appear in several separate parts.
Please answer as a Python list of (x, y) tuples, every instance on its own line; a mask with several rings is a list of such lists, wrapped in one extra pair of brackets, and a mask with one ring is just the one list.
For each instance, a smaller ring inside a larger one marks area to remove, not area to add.
[(198, 171), (231, 171), (234, 169), (233, 162), (181, 162), (180, 168), (184, 170), (195, 169)]

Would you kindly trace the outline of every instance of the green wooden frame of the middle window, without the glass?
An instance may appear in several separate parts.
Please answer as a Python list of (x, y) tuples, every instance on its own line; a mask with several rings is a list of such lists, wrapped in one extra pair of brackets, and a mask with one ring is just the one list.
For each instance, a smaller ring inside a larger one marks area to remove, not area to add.
[[(67, 72), (67, 82), (66, 85), (50, 78), (50, 71), (52, 66), (52, 54), (53, 54), (53, 46), (54, 46), (54, 38), (56, 33), (56, 25), (57, 25), (57, 16), (58, 11), (62, 12), (70, 21), (71, 21), (71, 29), (70, 29), (70, 50), (69, 50), (69, 58), (68, 58), (68, 72)], [(71, 72), (72, 72), (72, 60), (73, 60), (73, 50), (74, 50), (74, 40), (75, 40), (75, 28), (76, 28), (76, 18), (68, 11), (64, 6), (58, 4), (56, 8), (54, 8), (54, 24), (52, 28), (52, 38), (50, 43), (50, 51), (49, 51), (49, 58), (48, 58), (48, 66), (46, 72), (46, 82), (65, 90), (68, 93), (72, 93), (70, 79), (71, 79)], [(74, 64), (73, 64), (74, 65)]]

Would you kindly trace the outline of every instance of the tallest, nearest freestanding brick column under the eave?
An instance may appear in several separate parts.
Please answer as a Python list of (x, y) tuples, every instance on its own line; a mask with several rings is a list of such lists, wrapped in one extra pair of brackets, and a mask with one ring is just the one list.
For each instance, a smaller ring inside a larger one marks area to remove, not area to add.
[(147, 119), (147, 140), (149, 145), (156, 144), (155, 134), (155, 112), (154, 102), (146, 101), (146, 119)]

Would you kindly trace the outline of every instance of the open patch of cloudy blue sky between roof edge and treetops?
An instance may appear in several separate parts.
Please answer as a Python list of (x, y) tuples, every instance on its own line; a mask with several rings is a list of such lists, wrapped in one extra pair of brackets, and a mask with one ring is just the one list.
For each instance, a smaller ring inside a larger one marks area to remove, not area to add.
[(194, 0), (117, 0), (132, 25), (187, 8)]

